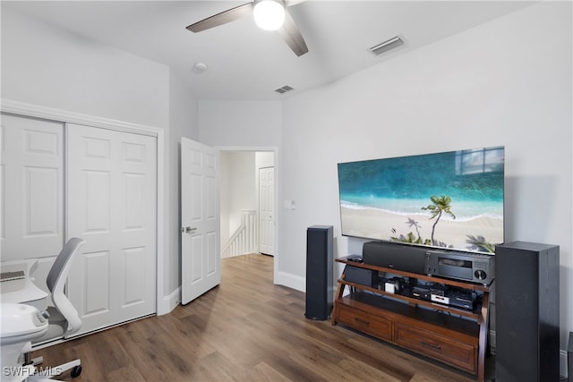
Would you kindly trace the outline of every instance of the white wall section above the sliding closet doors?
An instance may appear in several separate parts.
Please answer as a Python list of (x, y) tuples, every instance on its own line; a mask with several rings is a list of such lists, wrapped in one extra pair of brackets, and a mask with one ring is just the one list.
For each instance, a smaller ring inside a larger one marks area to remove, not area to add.
[(2, 7), (2, 97), (167, 128), (167, 66)]

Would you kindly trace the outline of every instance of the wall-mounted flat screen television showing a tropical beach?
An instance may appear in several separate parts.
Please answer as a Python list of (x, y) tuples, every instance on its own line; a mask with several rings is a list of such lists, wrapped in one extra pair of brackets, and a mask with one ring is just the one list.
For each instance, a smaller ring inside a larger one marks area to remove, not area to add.
[(503, 242), (503, 147), (338, 164), (344, 236), (493, 253)]

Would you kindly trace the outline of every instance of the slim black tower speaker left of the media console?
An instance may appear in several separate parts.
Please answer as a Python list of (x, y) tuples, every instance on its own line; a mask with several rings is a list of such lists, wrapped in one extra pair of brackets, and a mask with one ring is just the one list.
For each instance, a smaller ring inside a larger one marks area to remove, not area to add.
[(306, 231), (306, 318), (328, 319), (332, 310), (332, 242), (332, 225), (312, 225)]

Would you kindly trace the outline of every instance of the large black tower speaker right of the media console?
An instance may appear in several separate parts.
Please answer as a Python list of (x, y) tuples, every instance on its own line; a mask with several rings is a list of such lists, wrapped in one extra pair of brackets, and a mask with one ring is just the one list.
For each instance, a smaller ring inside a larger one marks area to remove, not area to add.
[(496, 381), (559, 381), (559, 273), (559, 246), (495, 247)]

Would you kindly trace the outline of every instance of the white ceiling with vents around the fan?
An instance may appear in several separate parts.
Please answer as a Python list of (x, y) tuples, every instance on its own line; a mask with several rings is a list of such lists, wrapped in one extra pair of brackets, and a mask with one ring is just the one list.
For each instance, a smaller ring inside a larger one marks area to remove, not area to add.
[[(524, 1), (327, 1), (287, 8), (309, 53), (297, 57), (277, 32), (252, 19), (212, 30), (185, 29), (242, 1), (2, 1), (134, 55), (166, 64), (198, 99), (274, 100), (336, 81), (532, 4)], [(384, 55), (368, 48), (394, 36), (406, 44)], [(208, 65), (201, 74), (195, 63)], [(294, 91), (280, 95), (275, 89)]]

